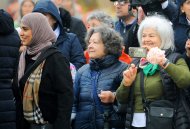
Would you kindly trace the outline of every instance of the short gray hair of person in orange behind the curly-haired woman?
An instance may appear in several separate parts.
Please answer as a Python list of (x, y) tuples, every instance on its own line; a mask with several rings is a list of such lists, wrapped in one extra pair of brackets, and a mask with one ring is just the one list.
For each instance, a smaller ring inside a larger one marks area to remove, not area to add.
[(98, 20), (103, 25), (114, 28), (114, 20), (112, 19), (112, 17), (110, 15), (106, 14), (103, 11), (96, 10), (96, 11), (91, 12), (87, 17), (87, 22), (89, 22), (90, 20), (93, 20), (93, 19)]

